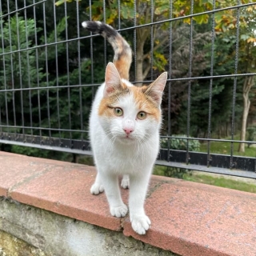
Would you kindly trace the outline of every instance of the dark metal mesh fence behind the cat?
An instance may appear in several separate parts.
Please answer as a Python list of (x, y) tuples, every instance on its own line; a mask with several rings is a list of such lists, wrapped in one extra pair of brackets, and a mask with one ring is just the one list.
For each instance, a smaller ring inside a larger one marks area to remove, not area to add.
[[(247, 135), (255, 122), (253, 1), (56, 2), (0, 1), (2, 150), (91, 155), (90, 105), (113, 57), (106, 40), (81, 27), (98, 19), (132, 46), (131, 82), (169, 73), (157, 163), (256, 178), (254, 136), (239, 137), (246, 88)], [(241, 143), (249, 155), (238, 153)]]

